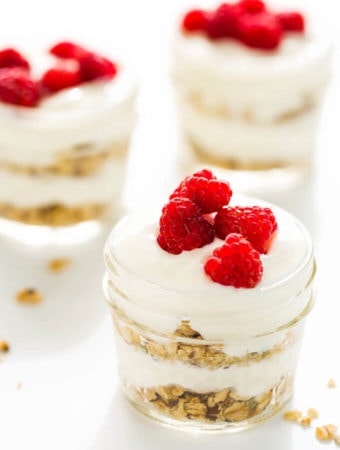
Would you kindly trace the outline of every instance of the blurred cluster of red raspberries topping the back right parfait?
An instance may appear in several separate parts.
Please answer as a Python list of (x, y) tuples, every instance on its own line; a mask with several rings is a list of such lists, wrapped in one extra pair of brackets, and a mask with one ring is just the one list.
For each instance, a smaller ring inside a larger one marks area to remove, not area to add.
[(235, 39), (248, 47), (277, 49), (286, 33), (303, 33), (304, 16), (297, 11), (271, 11), (262, 0), (222, 3), (213, 10), (185, 14), (182, 30), (203, 33), (211, 40)]

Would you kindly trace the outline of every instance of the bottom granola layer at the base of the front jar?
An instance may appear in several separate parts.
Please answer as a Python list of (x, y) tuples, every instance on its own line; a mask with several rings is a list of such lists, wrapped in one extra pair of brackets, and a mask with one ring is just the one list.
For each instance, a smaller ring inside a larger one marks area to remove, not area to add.
[(170, 418), (206, 423), (242, 422), (260, 416), (266, 408), (280, 408), (290, 397), (292, 383), (284, 377), (271, 389), (256, 395), (242, 396), (233, 388), (195, 392), (178, 385), (152, 388), (126, 386), (137, 402), (149, 404)]

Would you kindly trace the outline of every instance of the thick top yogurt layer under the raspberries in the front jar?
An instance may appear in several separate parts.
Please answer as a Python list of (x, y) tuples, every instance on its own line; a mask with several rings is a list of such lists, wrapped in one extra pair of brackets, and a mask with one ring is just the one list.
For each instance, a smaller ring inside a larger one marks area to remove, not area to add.
[[(231, 204), (264, 205), (235, 195)], [(272, 209), (279, 229), (268, 254), (261, 255), (263, 278), (252, 289), (223, 286), (205, 274), (204, 263), (220, 239), (172, 255), (156, 242), (159, 214), (127, 216), (106, 246), (108, 297), (129, 318), (153, 330), (172, 333), (186, 319), (206, 339), (255, 336), (287, 324), (311, 300), (305, 286), (314, 270), (312, 244), (295, 218)]]

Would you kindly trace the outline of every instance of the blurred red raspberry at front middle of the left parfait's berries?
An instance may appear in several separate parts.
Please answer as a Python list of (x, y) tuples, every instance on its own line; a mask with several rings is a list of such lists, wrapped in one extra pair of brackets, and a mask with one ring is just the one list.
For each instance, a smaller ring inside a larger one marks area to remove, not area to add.
[(48, 92), (58, 92), (77, 86), (81, 81), (79, 66), (65, 65), (47, 70), (41, 78), (41, 85)]

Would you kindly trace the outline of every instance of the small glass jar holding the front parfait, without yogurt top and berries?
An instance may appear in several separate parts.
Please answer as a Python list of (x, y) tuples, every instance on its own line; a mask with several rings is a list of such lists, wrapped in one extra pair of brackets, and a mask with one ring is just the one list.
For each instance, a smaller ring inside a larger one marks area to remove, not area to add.
[[(127, 229), (129, 223), (123, 219), (118, 226)], [(259, 287), (256, 300), (252, 289), (223, 286), (224, 304), (213, 290), (202, 302), (194, 283), (190, 291), (176, 291), (156, 284), (152, 273), (132, 272), (117, 255), (119, 230), (113, 230), (105, 248), (104, 293), (123, 389), (137, 410), (183, 429), (227, 431), (282, 410), (293, 393), (304, 324), (314, 304), (315, 262), (308, 234), (302, 233), (306, 251), (288, 276)], [(178, 256), (171, 258), (169, 280)], [(236, 303), (229, 302), (229, 292)]]

